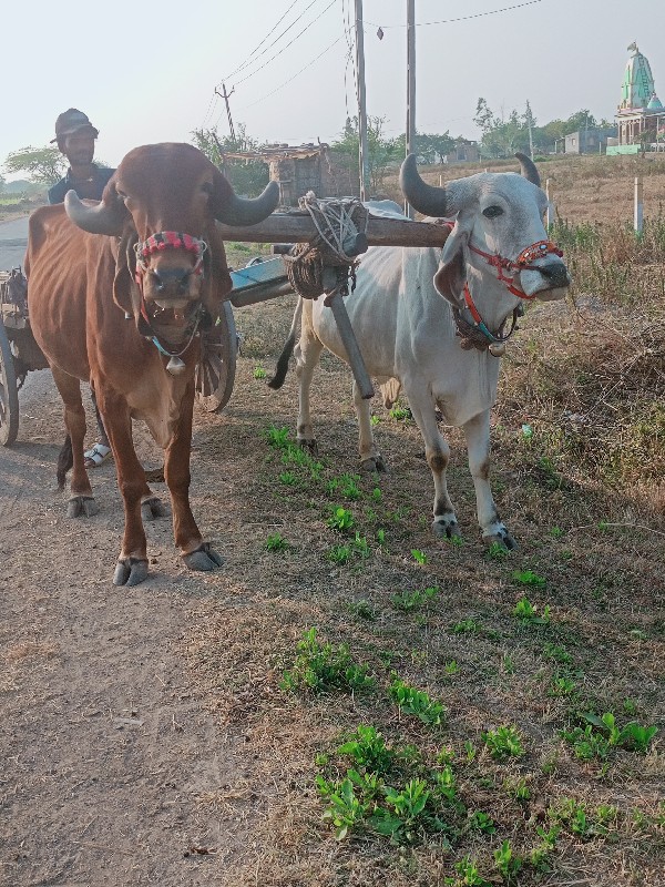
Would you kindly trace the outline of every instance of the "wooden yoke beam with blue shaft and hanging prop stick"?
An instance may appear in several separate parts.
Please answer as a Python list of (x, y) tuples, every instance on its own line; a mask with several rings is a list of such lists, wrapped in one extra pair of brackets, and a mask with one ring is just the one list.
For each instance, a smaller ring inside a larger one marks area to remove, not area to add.
[[(334, 202), (330, 201), (329, 203)], [(217, 223), (217, 228), (223, 239), (227, 243), (243, 241), (247, 243), (286, 243), (290, 245), (309, 244), (310, 247), (320, 251), (320, 261), (323, 261), (320, 276), (323, 283), (314, 294), (303, 292), (298, 286), (294, 286), (293, 272), (290, 268), (290, 273), (287, 272), (287, 264), (298, 261), (291, 257), (294, 253), (309, 252), (296, 246), (295, 249), (289, 251), (290, 255), (284, 258), (278, 257), (267, 262), (250, 263), (242, 271), (232, 272), (234, 289), (231, 302), (236, 307), (241, 307), (275, 298), (294, 290), (301, 297), (310, 298), (316, 298), (318, 295), (326, 293), (326, 305), (332, 310), (354, 378), (362, 398), (366, 400), (374, 397), (374, 388), (344, 304), (344, 296), (348, 294), (348, 286), (342, 283), (342, 279), (346, 281), (347, 271), (345, 269), (340, 275), (338, 273), (340, 264), (346, 264), (347, 269), (350, 271), (354, 267), (354, 258), (365, 253), (369, 246), (442, 247), (450, 234), (449, 226), (433, 222), (411, 222), (410, 220), (372, 216), (371, 213), (366, 213), (364, 231), (354, 230), (354, 234), (344, 239), (344, 245), (340, 243), (340, 252), (344, 252), (347, 256), (347, 262), (340, 263), (335, 257), (334, 251), (329, 248), (328, 238), (321, 236), (320, 224), (315, 222), (315, 213), (313, 211), (273, 213), (263, 222), (246, 228)], [(339, 234), (341, 236), (341, 232)], [(280, 249), (280, 252), (284, 251)]]

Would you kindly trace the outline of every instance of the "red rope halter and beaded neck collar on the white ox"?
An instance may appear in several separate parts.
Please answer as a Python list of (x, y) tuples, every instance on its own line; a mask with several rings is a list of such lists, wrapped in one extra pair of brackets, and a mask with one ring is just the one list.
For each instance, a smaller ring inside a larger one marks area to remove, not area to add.
[[(450, 227), (451, 231), (454, 227), (454, 222), (446, 222), (444, 224)], [(485, 253), (484, 251), (479, 249), (477, 246), (472, 246), (471, 244), (469, 244), (469, 249), (472, 253), (477, 253), (479, 256), (482, 256), (487, 261), (488, 265), (497, 268), (498, 279), (501, 281), (509, 293), (512, 293), (513, 296), (518, 296), (518, 298), (526, 302), (531, 302), (531, 299), (535, 298), (535, 295), (528, 296), (522, 288), (515, 286), (514, 274), (521, 271), (539, 271), (538, 265), (530, 264), (536, 258), (544, 258), (550, 254), (559, 257), (563, 256), (563, 249), (560, 249), (556, 244), (552, 243), (552, 241), (536, 241), (535, 243), (531, 244), (531, 246), (522, 249), (514, 262), (510, 258), (504, 258), (497, 253)], [(512, 273), (513, 276), (507, 277), (504, 272), (508, 272), (509, 274)], [(461, 347), (464, 350), (475, 348), (479, 351), (484, 351), (488, 349), (493, 357), (501, 357), (505, 353), (505, 343), (512, 336), (515, 329), (519, 329), (518, 318), (523, 316), (524, 306), (518, 305), (518, 307), (513, 310), (510, 329), (504, 334), (503, 328), (505, 326), (505, 320), (501, 324), (495, 333), (490, 332), (482, 319), (475, 303), (473, 302), (469, 285), (467, 283), (464, 284), (464, 303), (469, 309), (469, 313), (471, 314), (471, 317), (473, 318), (472, 324), (462, 317), (460, 308), (453, 307), (454, 323), (458, 328), (457, 334), (461, 338)]]

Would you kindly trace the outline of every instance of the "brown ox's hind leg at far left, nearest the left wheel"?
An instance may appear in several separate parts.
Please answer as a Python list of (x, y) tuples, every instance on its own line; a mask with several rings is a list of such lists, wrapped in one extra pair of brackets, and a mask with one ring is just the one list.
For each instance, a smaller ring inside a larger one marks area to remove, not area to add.
[[(78, 518), (81, 514), (91, 517), (96, 514), (98, 507), (92, 496), (90, 478), (85, 470), (83, 456), (83, 441), (85, 440), (85, 410), (81, 398), (81, 384), (79, 379), (52, 367), (53, 379), (64, 404), (64, 425), (71, 446), (72, 479), (70, 483), (70, 500), (66, 509), (68, 517)], [(66, 441), (65, 441), (66, 447)], [(68, 459), (69, 461), (69, 459)], [(62, 466), (64, 467), (64, 466)], [(64, 487), (64, 471), (59, 465), (58, 486)]]

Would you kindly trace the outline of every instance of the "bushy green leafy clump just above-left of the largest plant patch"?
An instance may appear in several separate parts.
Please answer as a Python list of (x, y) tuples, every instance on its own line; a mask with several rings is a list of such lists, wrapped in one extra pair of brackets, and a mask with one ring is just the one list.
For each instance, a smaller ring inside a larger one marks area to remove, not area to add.
[(283, 690), (318, 694), (357, 692), (374, 686), (369, 670), (352, 660), (348, 646), (320, 643), (315, 628), (305, 632), (296, 650), (293, 667), (284, 672), (280, 683)]

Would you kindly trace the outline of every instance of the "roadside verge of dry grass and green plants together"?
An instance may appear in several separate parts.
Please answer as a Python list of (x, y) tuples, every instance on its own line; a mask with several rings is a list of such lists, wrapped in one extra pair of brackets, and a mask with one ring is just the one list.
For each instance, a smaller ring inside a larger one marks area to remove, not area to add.
[(262, 798), (260, 855), (239, 879), (659, 883), (665, 226), (652, 215), (637, 237), (627, 222), (560, 218), (552, 235), (574, 287), (528, 309), (493, 414), (511, 552), (478, 539), (452, 429), (463, 538), (430, 536), (407, 402), (375, 402), (391, 472), (355, 472), (350, 385), (332, 358), (314, 389), (319, 456), (295, 441), (295, 375), (249, 418), (291, 304), (238, 312), (245, 376), (227, 420), (249, 424), (242, 482), (263, 517), (234, 555), (252, 580), (223, 615), (202, 611), (188, 652), (255, 762), (205, 798), (238, 816), (235, 797)]

